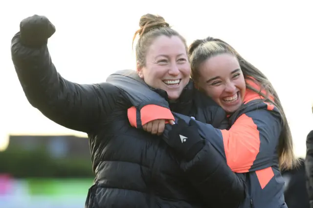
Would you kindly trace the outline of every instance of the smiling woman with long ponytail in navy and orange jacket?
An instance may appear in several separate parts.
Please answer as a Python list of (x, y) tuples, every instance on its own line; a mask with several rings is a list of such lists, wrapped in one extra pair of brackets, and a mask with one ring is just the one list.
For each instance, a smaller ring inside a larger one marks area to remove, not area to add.
[[(193, 81), (227, 112), (230, 126), (220, 130), (173, 112), (177, 124), (165, 127), (164, 140), (179, 138), (180, 144), (183, 135), (220, 149), (234, 172), (246, 173), (248, 188), (240, 208), (287, 208), (280, 170), (294, 167), (297, 160), (289, 124), (268, 78), (220, 39), (196, 40), (189, 55)], [(167, 133), (171, 129), (176, 132)]]

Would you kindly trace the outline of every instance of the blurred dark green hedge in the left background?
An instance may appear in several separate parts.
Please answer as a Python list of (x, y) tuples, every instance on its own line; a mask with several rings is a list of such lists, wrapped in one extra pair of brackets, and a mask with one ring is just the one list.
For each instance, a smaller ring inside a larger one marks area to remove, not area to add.
[(51, 155), (51, 152), (47, 151), (47, 148), (44, 148), (49, 145), (29, 149), (23, 148), (23, 145), (21, 145), (22, 142), (25, 142), (24, 140), (19, 140), (13, 142), (13, 145), (10, 144), (5, 151), (0, 152), (0, 173), (9, 174), (15, 178), (94, 177), (87, 139), (80, 138), (74, 141), (75, 143), (84, 143), (81, 145), (84, 146), (84, 152), (76, 148), (77, 153), (69, 151), (69, 153), (62, 157)]

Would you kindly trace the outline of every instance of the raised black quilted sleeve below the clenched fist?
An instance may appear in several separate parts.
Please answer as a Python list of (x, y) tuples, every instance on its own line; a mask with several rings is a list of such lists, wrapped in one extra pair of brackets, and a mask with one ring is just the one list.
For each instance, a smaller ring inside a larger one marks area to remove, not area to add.
[(11, 42), (11, 55), (28, 102), (59, 125), (89, 133), (115, 106), (120, 94), (117, 87), (109, 83), (77, 84), (62, 78), (46, 44), (25, 47), (17, 33)]

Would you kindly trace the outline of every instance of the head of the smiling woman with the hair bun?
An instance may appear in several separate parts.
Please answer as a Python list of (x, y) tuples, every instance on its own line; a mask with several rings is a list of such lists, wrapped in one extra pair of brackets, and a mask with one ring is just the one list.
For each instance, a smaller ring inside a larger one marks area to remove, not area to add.
[(137, 34), (140, 37), (136, 44), (139, 77), (151, 87), (165, 90), (170, 100), (178, 99), (190, 78), (185, 39), (169, 29), (162, 17), (148, 14), (141, 17), (139, 26), (134, 34), (134, 39)]

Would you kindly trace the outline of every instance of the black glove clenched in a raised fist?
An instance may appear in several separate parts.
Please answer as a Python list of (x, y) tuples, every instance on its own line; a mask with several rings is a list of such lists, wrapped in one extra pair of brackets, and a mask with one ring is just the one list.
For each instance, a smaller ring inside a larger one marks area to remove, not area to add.
[(54, 25), (45, 16), (33, 15), (20, 23), (21, 42), (28, 47), (47, 44), (54, 32)]

